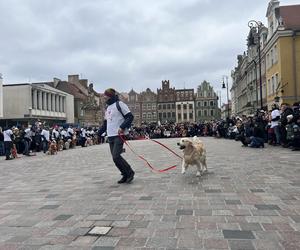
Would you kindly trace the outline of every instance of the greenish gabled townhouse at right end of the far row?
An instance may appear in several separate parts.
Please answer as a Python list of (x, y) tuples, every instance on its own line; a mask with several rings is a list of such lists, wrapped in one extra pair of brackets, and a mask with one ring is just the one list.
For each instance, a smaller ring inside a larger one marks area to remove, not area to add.
[(196, 122), (220, 119), (218, 96), (209, 82), (203, 81), (195, 98)]

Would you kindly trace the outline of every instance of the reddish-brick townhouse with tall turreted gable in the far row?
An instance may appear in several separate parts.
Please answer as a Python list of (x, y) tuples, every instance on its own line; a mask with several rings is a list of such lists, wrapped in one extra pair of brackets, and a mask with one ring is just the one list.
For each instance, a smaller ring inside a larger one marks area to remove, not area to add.
[(176, 122), (176, 91), (170, 87), (170, 81), (162, 81), (162, 87), (157, 89), (158, 121), (161, 124)]

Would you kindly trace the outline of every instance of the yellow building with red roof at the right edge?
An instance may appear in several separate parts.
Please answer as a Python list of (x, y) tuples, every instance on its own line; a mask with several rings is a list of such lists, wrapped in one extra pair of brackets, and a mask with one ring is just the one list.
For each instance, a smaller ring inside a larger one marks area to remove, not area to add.
[(267, 105), (300, 101), (300, 5), (279, 6), (270, 1), (267, 11)]

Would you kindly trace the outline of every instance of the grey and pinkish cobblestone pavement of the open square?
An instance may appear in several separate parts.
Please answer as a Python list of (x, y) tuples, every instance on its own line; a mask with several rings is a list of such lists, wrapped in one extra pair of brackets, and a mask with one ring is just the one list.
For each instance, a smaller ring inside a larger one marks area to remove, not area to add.
[[(48, 156), (0, 159), (0, 249), (300, 249), (300, 154), (243, 148), (202, 138), (209, 173), (180, 174), (157, 144), (131, 145), (132, 184), (120, 178), (108, 145)], [(161, 140), (176, 152), (177, 139)], [(112, 227), (106, 235), (93, 227)]]

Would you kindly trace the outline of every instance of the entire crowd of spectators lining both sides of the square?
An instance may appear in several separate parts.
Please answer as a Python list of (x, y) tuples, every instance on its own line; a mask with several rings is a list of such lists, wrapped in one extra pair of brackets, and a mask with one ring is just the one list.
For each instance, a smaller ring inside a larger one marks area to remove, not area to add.
[[(265, 143), (300, 150), (300, 105), (279, 107), (270, 111), (258, 111), (255, 115), (231, 117), (226, 120), (200, 123), (145, 124), (129, 129), (128, 139), (175, 138), (213, 136), (241, 141), (243, 146), (264, 147)], [(0, 156), (7, 160), (16, 154), (32, 155), (34, 152), (49, 153), (51, 143), (57, 151), (76, 146), (90, 146), (105, 142), (105, 134), (99, 128), (72, 126), (48, 127), (40, 121), (31, 126), (0, 128)]]

